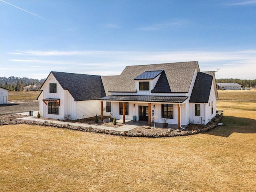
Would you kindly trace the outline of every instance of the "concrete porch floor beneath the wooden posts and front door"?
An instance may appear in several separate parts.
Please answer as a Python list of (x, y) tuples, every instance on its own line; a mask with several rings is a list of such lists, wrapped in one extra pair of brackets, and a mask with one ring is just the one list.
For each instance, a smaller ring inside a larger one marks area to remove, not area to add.
[[(109, 118), (104, 119), (104, 122), (110, 122)], [(123, 123), (122, 119), (116, 119), (116, 122), (118, 123)], [(148, 126), (148, 122), (147, 121), (133, 121), (133, 120), (125, 120), (125, 124), (127, 125), (136, 125), (136, 126)], [(154, 127), (154, 123), (151, 122), (151, 126)], [(156, 123), (156, 127), (157, 128), (164, 128), (162, 123)], [(186, 128), (186, 125), (181, 125), (182, 128)], [(178, 125), (176, 124), (168, 124), (167, 128), (172, 128), (172, 129), (178, 129)]]

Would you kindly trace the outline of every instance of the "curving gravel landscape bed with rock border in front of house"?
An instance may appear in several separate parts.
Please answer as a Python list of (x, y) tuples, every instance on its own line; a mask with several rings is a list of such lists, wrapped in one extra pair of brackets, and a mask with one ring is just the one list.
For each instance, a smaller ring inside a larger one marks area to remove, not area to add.
[[(202, 132), (206, 132), (208, 130), (211, 130), (217, 126), (217, 124), (222, 119), (222, 115), (217, 115), (214, 119), (211, 121), (211, 125), (198, 125), (198, 124), (189, 124), (185, 130), (178, 130), (178, 129), (168, 129), (168, 128), (154, 128), (149, 126), (139, 126), (133, 130), (127, 131), (127, 132), (120, 132), (120, 131), (114, 131), (114, 130), (102, 130), (102, 129), (96, 129), (92, 127), (81, 127), (81, 126), (70, 126), (69, 124), (57, 124), (53, 123), (53, 119), (45, 119), (44, 122), (37, 122), (36, 118), (34, 121), (27, 121), (27, 120), (20, 120), (18, 118), (20, 117), (26, 117), (24, 115), (16, 115), (16, 114), (5, 114), (0, 115), (0, 125), (6, 125), (6, 124), (34, 124), (34, 125), (42, 125), (42, 126), (53, 126), (57, 128), (68, 128), (72, 130), (78, 130), (78, 131), (86, 131), (86, 132), (97, 132), (97, 133), (104, 133), (104, 134), (112, 134), (112, 135), (118, 135), (118, 136), (130, 136), (130, 137), (172, 137), (172, 136), (185, 136), (185, 135), (192, 135), (192, 134), (198, 134)], [(44, 119), (44, 118), (40, 118)], [(108, 127), (120, 127), (123, 124), (117, 123), (117, 125), (113, 125), (112, 122), (106, 123), (106, 122), (99, 122), (95, 123), (94, 120), (91, 119), (84, 119), (84, 120), (65, 120), (68, 122), (79, 122), (84, 124), (96, 124), (100, 126), (108, 126)]]

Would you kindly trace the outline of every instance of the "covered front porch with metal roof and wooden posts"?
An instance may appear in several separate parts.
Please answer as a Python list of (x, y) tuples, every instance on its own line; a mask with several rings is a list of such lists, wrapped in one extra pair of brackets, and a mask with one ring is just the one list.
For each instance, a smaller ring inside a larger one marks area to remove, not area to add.
[(121, 123), (133, 123), (135, 117), (134, 123), (148, 126), (156, 122), (159, 123), (157, 124), (159, 127), (163, 127), (162, 122), (166, 121), (169, 126), (178, 128), (182, 125), (181, 114), (185, 113), (184, 101), (187, 98), (186, 96), (110, 95), (99, 99), (100, 115), (102, 117), (112, 115), (116, 119), (122, 119)]

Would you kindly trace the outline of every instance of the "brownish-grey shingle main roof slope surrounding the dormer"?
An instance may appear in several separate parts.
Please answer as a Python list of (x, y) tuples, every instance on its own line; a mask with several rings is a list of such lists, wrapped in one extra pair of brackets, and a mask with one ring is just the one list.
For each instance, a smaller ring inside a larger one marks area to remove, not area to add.
[(196, 68), (199, 71), (197, 61), (126, 66), (120, 76), (116, 76), (108, 91), (136, 92), (134, 78), (145, 71), (164, 70), (172, 92), (188, 92)]

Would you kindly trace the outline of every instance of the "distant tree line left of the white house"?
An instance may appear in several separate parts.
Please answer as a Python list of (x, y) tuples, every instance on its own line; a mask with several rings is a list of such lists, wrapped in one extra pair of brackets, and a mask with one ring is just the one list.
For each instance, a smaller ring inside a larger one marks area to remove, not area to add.
[(28, 85), (42, 85), (45, 79), (19, 78), (19, 77), (0, 77), (0, 86), (12, 91), (22, 91)]

